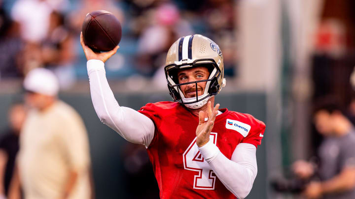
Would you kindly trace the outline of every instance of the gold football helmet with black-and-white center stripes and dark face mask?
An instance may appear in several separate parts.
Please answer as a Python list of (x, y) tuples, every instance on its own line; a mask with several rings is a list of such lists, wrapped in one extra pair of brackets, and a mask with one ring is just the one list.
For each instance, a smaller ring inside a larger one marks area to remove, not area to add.
[[(178, 84), (177, 72), (179, 69), (186, 69), (195, 66), (205, 66), (209, 69), (210, 76), (207, 80)], [(223, 56), (218, 45), (211, 39), (200, 35), (188, 35), (180, 37), (170, 47), (165, 64), (165, 75), (168, 82), (170, 95), (174, 101), (178, 101), (190, 109), (199, 109), (208, 100), (219, 93), (225, 86)], [(192, 98), (185, 98), (180, 86), (207, 82), (202, 95)]]

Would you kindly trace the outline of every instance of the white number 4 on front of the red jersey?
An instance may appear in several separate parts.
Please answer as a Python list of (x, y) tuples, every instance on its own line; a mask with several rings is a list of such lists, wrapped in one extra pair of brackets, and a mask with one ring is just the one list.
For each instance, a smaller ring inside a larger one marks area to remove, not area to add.
[[(217, 133), (210, 134), (210, 140), (215, 144), (217, 142)], [(190, 171), (198, 171), (198, 175), (194, 177), (194, 189), (214, 189), (215, 174), (210, 165), (202, 157), (197, 144), (196, 138), (187, 147), (183, 153), (184, 169)]]

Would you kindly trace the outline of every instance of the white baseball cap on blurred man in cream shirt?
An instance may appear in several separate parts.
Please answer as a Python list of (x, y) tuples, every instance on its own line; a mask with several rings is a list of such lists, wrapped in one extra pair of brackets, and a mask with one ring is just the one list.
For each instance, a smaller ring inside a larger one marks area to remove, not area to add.
[(31, 70), (25, 77), (23, 85), (26, 90), (50, 96), (57, 95), (59, 91), (57, 77), (45, 68)]

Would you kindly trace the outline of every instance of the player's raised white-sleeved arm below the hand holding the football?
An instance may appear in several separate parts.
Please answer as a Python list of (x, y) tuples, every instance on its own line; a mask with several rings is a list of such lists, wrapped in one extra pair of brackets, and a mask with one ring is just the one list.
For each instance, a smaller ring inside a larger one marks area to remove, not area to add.
[(104, 62), (91, 59), (87, 69), (91, 99), (100, 120), (127, 141), (148, 146), (154, 136), (154, 123), (145, 115), (118, 105), (106, 79)]

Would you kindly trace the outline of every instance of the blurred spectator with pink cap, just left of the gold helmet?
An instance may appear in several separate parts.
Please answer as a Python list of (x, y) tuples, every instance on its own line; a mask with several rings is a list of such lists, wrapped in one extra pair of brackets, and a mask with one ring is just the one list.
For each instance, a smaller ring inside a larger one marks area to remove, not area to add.
[(179, 37), (192, 34), (192, 28), (180, 17), (178, 7), (173, 3), (156, 3), (143, 16), (148, 26), (141, 30), (135, 60), (142, 74), (152, 76), (157, 69), (163, 70), (170, 45)]

